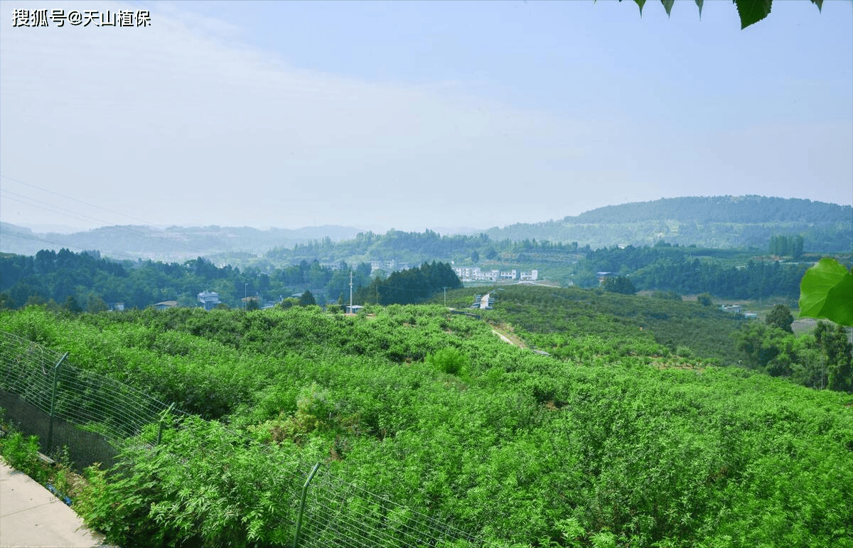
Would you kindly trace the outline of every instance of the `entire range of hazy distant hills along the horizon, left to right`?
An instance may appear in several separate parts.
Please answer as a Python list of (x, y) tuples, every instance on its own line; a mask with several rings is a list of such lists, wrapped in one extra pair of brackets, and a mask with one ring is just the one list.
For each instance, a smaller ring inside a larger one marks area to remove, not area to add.
[(35, 255), (45, 248), (68, 248), (99, 250), (114, 259), (183, 262), (203, 256), (232, 265), (252, 263), (260, 255), (276, 264), (315, 258), (324, 264), (385, 258), (414, 265), (422, 260), (470, 257), (473, 251), (485, 254), (490, 246), (506, 250), (508, 246), (498, 245), (503, 241), (577, 242), (581, 248), (640, 247), (663, 241), (700, 248), (767, 249), (771, 236), (798, 234), (804, 237), (808, 253), (846, 253), (853, 251), (853, 207), (756, 195), (665, 198), (483, 233), (491, 243), (479, 234), (439, 236), (435, 230), (422, 234), (389, 230), (382, 236), (334, 225), (299, 230), (128, 225), (60, 234), (0, 223), (0, 252)]

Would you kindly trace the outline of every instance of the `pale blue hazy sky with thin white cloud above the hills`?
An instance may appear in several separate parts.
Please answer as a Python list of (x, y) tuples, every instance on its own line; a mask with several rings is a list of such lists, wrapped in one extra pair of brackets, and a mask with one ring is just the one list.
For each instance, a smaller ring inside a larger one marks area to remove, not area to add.
[[(0, 220), (489, 228), (681, 195), (853, 203), (853, 9), (0, 1)], [(15, 9), (147, 9), (15, 27)], [(96, 19), (100, 22), (99, 19)]]

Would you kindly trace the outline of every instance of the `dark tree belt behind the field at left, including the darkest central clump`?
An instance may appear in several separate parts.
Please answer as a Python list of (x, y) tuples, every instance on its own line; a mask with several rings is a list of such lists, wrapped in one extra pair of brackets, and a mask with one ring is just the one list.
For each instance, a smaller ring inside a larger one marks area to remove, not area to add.
[[(198, 306), (195, 295), (202, 289), (217, 291), (223, 303), (237, 306), (241, 297), (258, 296), (258, 300), (281, 300), (293, 289), (299, 293), (299, 305), (317, 304), (310, 291), (327, 301), (343, 302), (349, 294), (350, 273), (355, 290), (364, 289), (358, 302), (415, 303), (427, 299), (444, 287), (461, 287), (459, 278), (444, 263), (392, 273), (386, 280), (370, 283), (370, 265), (362, 263), (351, 269), (340, 263), (336, 269), (323, 266), (314, 259), (299, 265), (278, 268), (270, 274), (253, 269), (241, 272), (231, 266), (218, 267), (199, 257), (177, 265), (147, 261), (140, 265), (123, 265), (100, 259), (95, 253), (74, 254), (61, 249), (58, 254), (40, 251), (34, 258), (9, 255), (0, 257), (0, 290), (6, 291), (5, 307), (43, 304), (49, 300), (63, 303), (71, 312), (101, 312), (107, 302), (121, 301), (125, 307), (144, 308), (160, 300), (177, 300), (183, 306)], [(130, 298), (128, 298), (130, 297)], [(83, 303), (83, 304), (81, 304)], [(245, 306), (258, 306), (257, 300), (245, 300)]]

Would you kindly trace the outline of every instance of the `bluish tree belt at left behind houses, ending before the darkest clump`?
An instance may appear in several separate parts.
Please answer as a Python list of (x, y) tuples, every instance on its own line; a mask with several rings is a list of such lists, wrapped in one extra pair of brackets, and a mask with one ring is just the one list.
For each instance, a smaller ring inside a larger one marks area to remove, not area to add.
[[(270, 272), (230, 265), (217, 266), (204, 258), (183, 263), (112, 261), (97, 252), (42, 250), (34, 257), (0, 256), (0, 303), (20, 308), (32, 304), (65, 307), (72, 312), (99, 312), (108, 304), (144, 308), (166, 300), (198, 306), (197, 294), (210, 290), (227, 306), (244, 306), (243, 299), (281, 300), (312, 289), (318, 299), (338, 300), (350, 290), (370, 283), (370, 265), (340, 262), (337, 268), (316, 259)], [(320, 296), (322, 295), (322, 297)]]

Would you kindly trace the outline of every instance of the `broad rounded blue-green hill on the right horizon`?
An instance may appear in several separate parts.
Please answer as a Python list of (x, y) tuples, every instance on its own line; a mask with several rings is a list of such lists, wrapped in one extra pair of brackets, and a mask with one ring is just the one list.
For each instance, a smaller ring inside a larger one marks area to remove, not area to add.
[(800, 234), (808, 251), (846, 252), (853, 249), (853, 207), (757, 195), (664, 198), (486, 233), (493, 240), (535, 238), (591, 248), (661, 240), (707, 248), (766, 248), (770, 236)]

